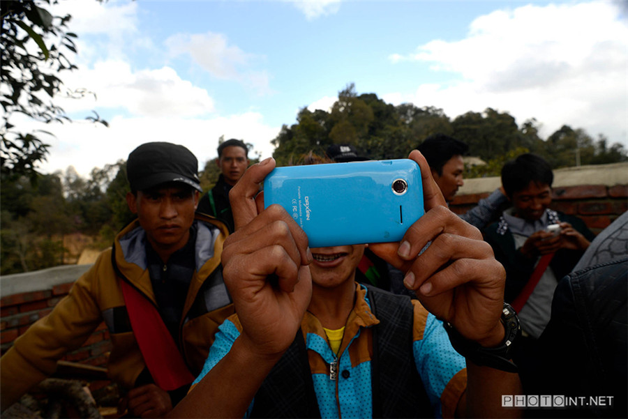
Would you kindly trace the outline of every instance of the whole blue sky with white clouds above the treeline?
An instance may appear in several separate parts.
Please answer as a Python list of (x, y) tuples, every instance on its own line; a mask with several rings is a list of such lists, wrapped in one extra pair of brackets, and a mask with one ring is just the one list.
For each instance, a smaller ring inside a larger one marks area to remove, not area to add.
[[(567, 124), (628, 147), (626, 9), (626, 1), (61, 0), (55, 11), (73, 15), (79, 36), (79, 70), (63, 80), (94, 94), (60, 100), (79, 121), (43, 127), (57, 137), (41, 169), (72, 165), (86, 176), (147, 141), (184, 144), (202, 168), (220, 135), (265, 158), (299, 108), (327, 109), (349, 83), (451, 119), (493, 107), (520, 125), (536, 118), (544, 137)], [(110, 128), (80, 121), (91, 109)]]

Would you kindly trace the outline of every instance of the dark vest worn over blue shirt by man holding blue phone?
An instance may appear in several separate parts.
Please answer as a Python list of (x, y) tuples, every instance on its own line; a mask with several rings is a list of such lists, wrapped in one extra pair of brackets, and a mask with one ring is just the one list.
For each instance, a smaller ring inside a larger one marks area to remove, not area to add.
[[(414, 310), (408, 296), (368, 288), (373, 326), (373, 418), (433, 417), (412, 353)], [(341, 379), (340, 376), (338, 379)], [(255, 395), (252, 418), (320, 418), (303, 333), (274, 366)]]

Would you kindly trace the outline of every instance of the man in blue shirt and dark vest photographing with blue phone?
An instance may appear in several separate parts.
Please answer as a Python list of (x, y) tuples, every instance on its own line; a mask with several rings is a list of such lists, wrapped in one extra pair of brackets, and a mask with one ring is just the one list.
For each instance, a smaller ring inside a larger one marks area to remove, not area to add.
[(264, 209), (257, 191), (274, 160), (248, 169), (230, 193), (236, 231), (223, 250), (237, 316), (172, 417), (518, 416), (501, 406), (521, 394), (504, 270), (447, 209), (421, 153), (410, 159), (426, 213), (400, 242), (369, 247), (405, 273), (413, 302), (354, 282), (366, 245), (311, 249), (284, 208)]

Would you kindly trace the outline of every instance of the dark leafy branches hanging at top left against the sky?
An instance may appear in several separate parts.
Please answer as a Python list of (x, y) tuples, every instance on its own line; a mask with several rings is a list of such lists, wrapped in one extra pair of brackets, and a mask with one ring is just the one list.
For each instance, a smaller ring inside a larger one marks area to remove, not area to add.
[[(53, 16), (45, 8), (57, 0), (0, 1), (0, 102), (3, 107), (0, 129), (0, 180), (22, 175), (37, 178), (37, 165), (45, 160), (49, 144), (40, 138), (47, 132), (22, 132), (10, 122), (24, 114), (44, 123), (71, 121), (52, 99), (63, 93), (58, 74), (77, 68), (75, 33), (68, 31), (70, 15)], [(84, 89), (71, 96), (81, 96)], [(91, 121), (107, 125), (98, 114)]]

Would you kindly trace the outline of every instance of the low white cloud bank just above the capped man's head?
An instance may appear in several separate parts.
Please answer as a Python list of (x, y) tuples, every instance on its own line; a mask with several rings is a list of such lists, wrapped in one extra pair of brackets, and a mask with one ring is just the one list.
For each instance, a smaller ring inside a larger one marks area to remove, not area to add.
[(126, 160), (128, 153), (135, 147), (151, 141), (183, 144), (196, 155), (199, 169), (202, 169), (207, 160), (216, 157), (221, 135), (225, 138), (245, 139), (253, 144), (250, 157), (260, 153), (262, 158), (267, 158), (273, 152), (270, 140), (276, 137), (280, 129), (264, 124), (262, 115), (256, 112), (214, 119), (116, 116), (109, 123), (109, 128), (85, 121), (54, 126), (32, 125), (56, 135), (56, 138), (41, 137), (52, 145), (47, 162), (40, 167), (42, 172), (64, 170), (71, 165), (77, 173), (87, 177), (94, 167)]

